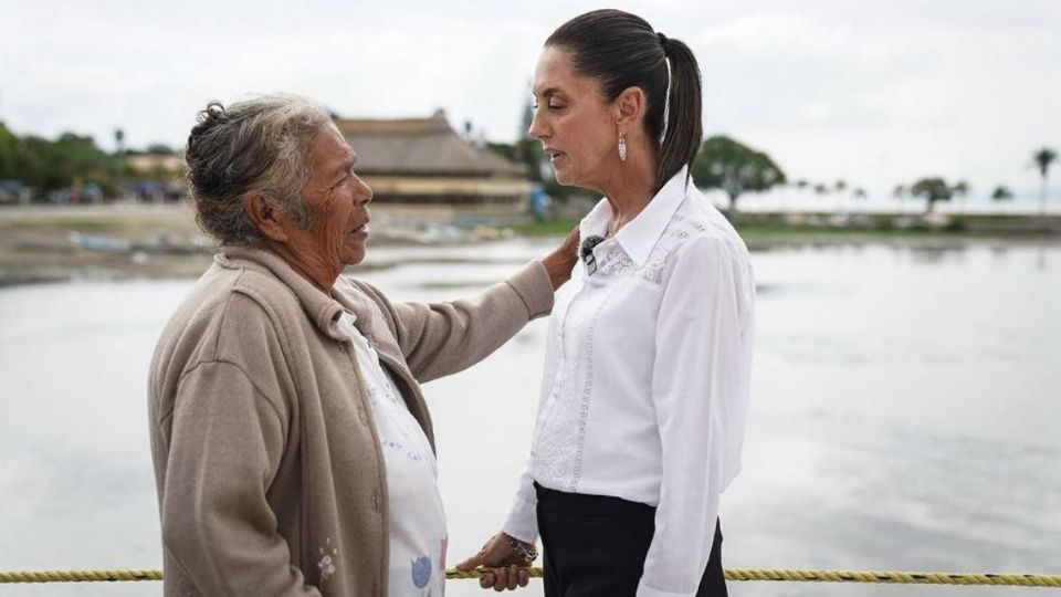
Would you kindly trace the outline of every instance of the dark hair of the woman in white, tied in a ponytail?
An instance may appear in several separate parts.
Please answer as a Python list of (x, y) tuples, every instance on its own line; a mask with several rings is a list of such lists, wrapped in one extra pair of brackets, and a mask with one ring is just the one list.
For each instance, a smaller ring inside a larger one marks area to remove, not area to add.
[(655, 33), (640, 17), (613, 9), (571, 19), (554, 31), (545, 45), (570, 52), (575, 71), (600, 81), (609, 102), (628, 87), (644, 92), (644, 133), (659, 157), (655, 190), (683, 166), (692, 171), (703, 124), (700, 67), (687, 45)]

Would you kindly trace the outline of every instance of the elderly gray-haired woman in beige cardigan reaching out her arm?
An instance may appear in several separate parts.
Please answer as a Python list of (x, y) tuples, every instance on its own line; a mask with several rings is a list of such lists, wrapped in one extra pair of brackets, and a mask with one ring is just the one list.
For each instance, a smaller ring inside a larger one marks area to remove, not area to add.
[(372, 191), (317, 104), (211, 104), (191, 196), (221, 248), (149, 381), (166, 595), (440, 596), (445, 521), (420, 384), (549, 312), (575, 241), (474, 301), (343, 280)]

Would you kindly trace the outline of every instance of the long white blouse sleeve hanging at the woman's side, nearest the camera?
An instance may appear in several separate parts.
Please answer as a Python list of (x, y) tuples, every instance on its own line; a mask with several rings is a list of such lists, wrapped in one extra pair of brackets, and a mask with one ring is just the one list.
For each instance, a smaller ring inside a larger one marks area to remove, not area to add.
[(655, 337), (652, 400), (662, 446), (655, 534), (639, 597), (695, 595), (711, 554), (727, 461), (726, 409), (742, 400), (750, 273), (727, 241), (674, 253)]

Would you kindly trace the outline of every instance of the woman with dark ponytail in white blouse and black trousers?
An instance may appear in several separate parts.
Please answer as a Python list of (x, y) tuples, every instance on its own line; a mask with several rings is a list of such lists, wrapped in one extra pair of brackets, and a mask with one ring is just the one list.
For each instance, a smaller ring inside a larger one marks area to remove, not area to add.
[(514, 589), (545, 548), (547, 597), (726, 595), (718, 502), (740, 468), (755, 285), (691, 184), (696, 59), (598, 10), (546, 41), (530, 135), (560, 184), (603, 199), (556, 296), (526, 470), (502, 532), (461, 569)]

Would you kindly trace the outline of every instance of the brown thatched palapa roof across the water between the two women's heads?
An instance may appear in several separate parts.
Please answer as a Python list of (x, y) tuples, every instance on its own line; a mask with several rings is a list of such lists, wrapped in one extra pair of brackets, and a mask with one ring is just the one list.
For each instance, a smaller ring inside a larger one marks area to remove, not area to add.
[(526, 178), (526, 167), (461, 138), (438, 111), (430, 118), (342, 118), (360, 175)]

